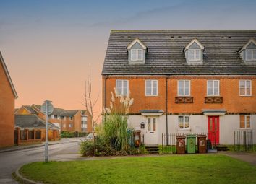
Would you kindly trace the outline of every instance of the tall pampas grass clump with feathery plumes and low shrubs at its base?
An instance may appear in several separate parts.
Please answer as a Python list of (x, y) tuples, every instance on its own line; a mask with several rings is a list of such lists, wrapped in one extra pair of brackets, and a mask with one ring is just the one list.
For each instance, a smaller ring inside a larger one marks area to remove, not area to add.
[(127, 122), (132, 104), (133, 99), (130, 98), (129, 92), (125, 96), (119, 95), (114, 88), (109, 108), (103, 109), (103, 123), (95, 127), (97, 136), (94, 140), (88, 140), (93, 144), (80, 144), (80, 152), (84, 156), (140, 154), (140, 149), (134, 146), (133, 129), (129, 128)]

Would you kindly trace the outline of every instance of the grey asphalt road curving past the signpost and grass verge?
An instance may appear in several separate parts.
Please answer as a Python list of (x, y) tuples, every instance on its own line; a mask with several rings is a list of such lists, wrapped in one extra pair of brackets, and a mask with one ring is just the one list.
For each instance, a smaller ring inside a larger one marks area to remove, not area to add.
[[(61, 144), (49, 146), (49, 159), (64, 161), (82, 159), (79, 154), (80, 139), (62, 139)], [(12, 173), (29, 162), (44, 160), (44, 146), (0, 153), (0, 183), (17, 183)]]

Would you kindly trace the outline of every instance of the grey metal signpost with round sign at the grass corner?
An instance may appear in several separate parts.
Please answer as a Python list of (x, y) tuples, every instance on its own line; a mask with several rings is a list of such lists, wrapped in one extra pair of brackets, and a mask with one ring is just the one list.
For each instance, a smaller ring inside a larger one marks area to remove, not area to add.
[(41, 111), (46, 115), (46, 143), (45, 143), (45, 162), (49, 160), (48, 154), (48, 115), (54, 111), (54, 106), (51, 104), (51, 101), (46, 100), (41, 106)]

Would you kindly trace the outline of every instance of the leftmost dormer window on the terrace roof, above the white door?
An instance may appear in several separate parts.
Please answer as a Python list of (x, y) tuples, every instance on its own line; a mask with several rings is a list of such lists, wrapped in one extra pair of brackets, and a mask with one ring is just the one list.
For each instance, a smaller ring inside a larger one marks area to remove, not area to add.
[(129, 64), (145, 63), (147, 48), (138, 38), (133, 40), (132, 43), (128, 45), (127, 51)]

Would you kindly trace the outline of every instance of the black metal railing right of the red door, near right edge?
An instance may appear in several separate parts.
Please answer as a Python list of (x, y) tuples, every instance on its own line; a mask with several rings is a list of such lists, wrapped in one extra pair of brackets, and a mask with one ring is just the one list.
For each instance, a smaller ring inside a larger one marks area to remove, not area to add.
[(234, 131), (234, 151), (249, 152), (252, 149), (252, 130)]

